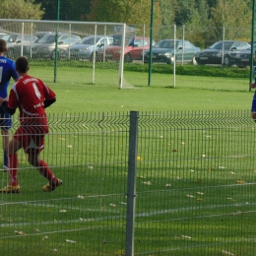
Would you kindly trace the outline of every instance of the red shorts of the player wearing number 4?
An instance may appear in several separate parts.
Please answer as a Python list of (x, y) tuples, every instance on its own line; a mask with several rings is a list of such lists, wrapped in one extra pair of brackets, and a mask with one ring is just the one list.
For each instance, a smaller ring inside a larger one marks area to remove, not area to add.
[(22, 142), (26, 154), (39, 153), (44, 148), (44, 133), (34, 129), (20, 127), (14, 134), (14, 139)]

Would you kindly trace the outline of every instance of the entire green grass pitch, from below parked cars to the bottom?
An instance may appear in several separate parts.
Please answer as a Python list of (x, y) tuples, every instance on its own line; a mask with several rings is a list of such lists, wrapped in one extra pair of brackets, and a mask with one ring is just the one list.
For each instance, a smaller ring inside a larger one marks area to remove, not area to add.
[(168, 74), (153, 74), (148, 87), (147, 73), (125, 71), (134, 89), (119, 90), (104, 84), (115, 72), (102, 70), (92, 85), (81, 79), (89, 70), (65, 67), (52, 83), (51, 67), (32, 66), (57, 94), (41, 157), (64, 184), (42, 193), (45, 180), (19, 153), (22, 192), (2, 195), (1, 255), (123, 254), (128, 115), (138, 110), (135, 255), (253, 256), (256, 136), (246, 79), (178, 75), (171, 88)]

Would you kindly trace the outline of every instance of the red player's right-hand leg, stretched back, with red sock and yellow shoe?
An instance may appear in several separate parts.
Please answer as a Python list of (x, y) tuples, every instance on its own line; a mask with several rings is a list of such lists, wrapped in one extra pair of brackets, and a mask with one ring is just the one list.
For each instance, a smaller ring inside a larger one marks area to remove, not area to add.
[(62, 185), (62, 180), (55, 177), (44, 160), (40, 160), (39, 153), (44, 148), (44, 136), (32, 136), (32, 143), (30, 145), (31, 147), (26, 150), (28, 160), (49, 181), (47, 185), (43, 186), (43, 191), (51, 192), (56, 187)]

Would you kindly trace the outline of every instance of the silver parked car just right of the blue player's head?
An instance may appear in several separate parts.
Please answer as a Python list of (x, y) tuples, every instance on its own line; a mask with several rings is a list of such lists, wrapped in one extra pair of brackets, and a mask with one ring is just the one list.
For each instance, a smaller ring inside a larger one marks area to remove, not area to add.
[(22, 53), (23, 55), (28, 55), (30, 53), (29, 45), (31, 45), (37, 37), (31, 34), (7, 33), (4, 34), (1, 39), (4, 39), (7, 43), (8, 50), (6, 52), (6, 56), (9, 58), (15, 58), (20, 56)]

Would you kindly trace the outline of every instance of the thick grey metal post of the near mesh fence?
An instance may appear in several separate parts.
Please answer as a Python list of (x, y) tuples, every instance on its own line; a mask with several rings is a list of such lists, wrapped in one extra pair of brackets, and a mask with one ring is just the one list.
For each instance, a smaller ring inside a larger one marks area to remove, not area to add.
[(137, 148), (138, 148), (138, 119), (139, 119), (139, 112), (130, 111), (125, 256), (134, 255), (134, 222), (135, 222), (136, 167), (137, 167)]

